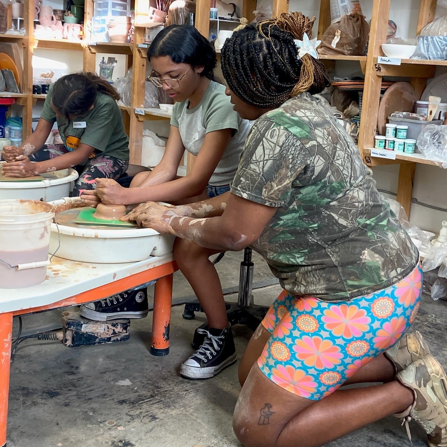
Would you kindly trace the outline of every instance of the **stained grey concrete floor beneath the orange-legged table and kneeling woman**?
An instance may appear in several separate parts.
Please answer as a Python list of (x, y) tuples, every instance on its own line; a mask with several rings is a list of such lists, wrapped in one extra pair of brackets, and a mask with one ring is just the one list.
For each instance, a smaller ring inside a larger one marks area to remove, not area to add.
[[(227, 253), (217, 265), (222, 287), (237, 287), (242, 253)], [(272, 281), (257, 255), (254, 284)], [(278, 286), (254, 291), (255, 303), (269, 305)], [(174, 303), (192, 295), (181, 274), (174, 280)], [(236, 300), (231, 295), (228, 300)], [(112, 345), (67, 348), (60, 342), (27, 340), (11, 368), (8, 447), (240, 447), (232, 432), (232, 411), (240, 391), (237, 364), (205, 381), (183, 379), (180, 363), (192, 353), (194, 329), (204, 322), (183, 320), (173, 308), (167, 357), (149, 354), (152, 313), (133, 320), (131, 338)], [(424, 296), (414, 327), (447, 367), (447, 302)], [(60, 326), (60, 311), (23, 318), (23, 333)], [(17, 322), (15, 322), (17, 325)], [(238, 358), (251, 331), (233, 328)], [(239, 363), (239, 362), (238, 362)], [(321, 422), (322, 425), (324, 421)], [(426, 434), (411, 423), (413, 445), (426, 445)], [(388, 417), (327, 444), (330, 447), (409, 446), (400, 422)]]

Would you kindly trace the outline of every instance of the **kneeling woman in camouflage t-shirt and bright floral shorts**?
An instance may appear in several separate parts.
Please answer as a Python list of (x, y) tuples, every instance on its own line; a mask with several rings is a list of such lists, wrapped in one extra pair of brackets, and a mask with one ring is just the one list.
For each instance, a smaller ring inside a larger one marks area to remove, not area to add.
[[(320, 446), (390, 414), (445, 446), (447, 377), (421, 334), (407, 333), (422, 292), (417, 249), (312, 96), (329, 84), (303, 45), (312, 23), (283, 14), (223, 47), (234, 109), (256, 120), (226, 204), (146, 203), (124, 220), (218, 251), (251, 245), (279, 278), (284, 291), (240, 363), (233, 428), (245, 447)], [(227, 339), (212, 337), (213, 359)], [(360, 382), (383, 384), (339, 389)]]

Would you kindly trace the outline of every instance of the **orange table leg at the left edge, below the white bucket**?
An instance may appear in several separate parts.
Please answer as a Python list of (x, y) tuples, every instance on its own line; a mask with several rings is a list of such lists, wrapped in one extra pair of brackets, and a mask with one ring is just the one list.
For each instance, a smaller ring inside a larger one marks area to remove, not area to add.
[(11, 366), (11, 340), (13, 337), (13, 314), (0, 313), (0, 446), (6, 446), (6, 423), (8, 422), (9, 370)]

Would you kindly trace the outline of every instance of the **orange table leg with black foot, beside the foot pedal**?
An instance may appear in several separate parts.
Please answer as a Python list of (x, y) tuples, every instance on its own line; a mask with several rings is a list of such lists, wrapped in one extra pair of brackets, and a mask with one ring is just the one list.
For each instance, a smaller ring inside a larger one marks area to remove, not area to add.
[(160, 278), (155, 284), (154, 313), (152, 316), (151, 354), (169, 354), (169, 325), (171, 323), (173, 274)]

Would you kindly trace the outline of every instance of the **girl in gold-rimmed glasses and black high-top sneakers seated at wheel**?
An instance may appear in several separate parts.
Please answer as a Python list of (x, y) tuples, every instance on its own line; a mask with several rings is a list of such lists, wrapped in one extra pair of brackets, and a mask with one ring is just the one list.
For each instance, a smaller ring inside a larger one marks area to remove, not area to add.
[[(135, 176), (130, 188), (113, 181), (98, 182), (96, 191), (82, 196), (93, 206), (98, 198), (104, 203), (127, 205), (148, 200), (190, 203), (228, 192), (236, 173), (249, 122), (232, 109), (225, 87), (215, 82), (216, 55), (207, 39), (190, 25), (169, 26), (157, 34), (148, 49), (148, 59), (153, 68), (149, 80), (176, 101), (164, 156), (152, 172)], [(179, 178), (177, 167), (185, 150), (197, 157), (192, 171)], [(208, 259), (213, 253), (196, 244), (185, 245), (184, 240), (174, 244), (177, 265), (194, 293), (203, 303), (209, 299), (210, 304), (203, 308), (212, 328), (210, 333), (220, 334), (228, 331), (228, 319), (219, 276)], [(85, 304), (81, 315), (93, 320), (146, 316), (148, 302), (141, 293), (146, 291)], [(225, 364), (236, 362), (234, 345), (230, 351)], [(206, 354), (200, 351), (198, 355)], [(182, 375), (195, 379), (217, 372), (213, 367), (204, 371), (194, 356), (181, 366)]]

